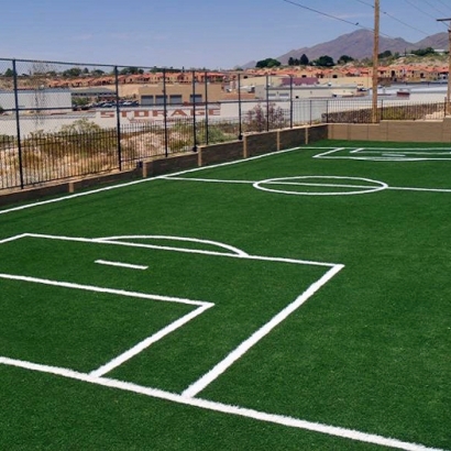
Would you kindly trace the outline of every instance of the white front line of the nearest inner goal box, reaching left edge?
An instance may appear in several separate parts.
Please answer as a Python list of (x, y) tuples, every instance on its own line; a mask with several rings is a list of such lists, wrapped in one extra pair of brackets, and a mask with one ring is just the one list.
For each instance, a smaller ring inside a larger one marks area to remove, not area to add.
[(69, 282), (48, 280), (46, 278), (21, 276), (16, 274), (0, 274), (0, 278), (6, 278), (10, 280), (31, 282), (35, 284), (51, 285), (51, 286), (64, 287), (64, 288), (75, 288), (75, 289), (81, 289), (86, 292), (108, 293), (111, 295), (135, 297), (140, 299), (161, 300), (164, 302), (178, 302), (178, 304), (187, 304), (191, 306), (205, 306), (205, 305), (213, 306), (212, 302), (206, 302), (204, 300), (191, 300), (191, 299), (184, 299), (184, 298), (170, 297), (170, 296), (150, 295), (150, 294), (138, 293), (138, 292), (125, 292), (123, 289), (103, 288), (103, 287), (97, 287), (92, 285), (79, 285), (79, 284), (73, 284)]

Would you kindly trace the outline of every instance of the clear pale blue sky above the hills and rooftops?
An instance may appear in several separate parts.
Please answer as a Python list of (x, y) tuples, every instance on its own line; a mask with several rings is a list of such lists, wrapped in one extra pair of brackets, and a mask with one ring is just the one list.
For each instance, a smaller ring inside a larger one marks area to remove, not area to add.
[[(331, 41), (360, 26), (373, 28), (373, 4), (374, 0), (14, 0), (2, 4), (0, 57), (227, 69)], [(437, 22), (443, 18), (451, 18), (451, 0), (381, 0), (381, 32), (391, 37), (418, 42), (447, 31), (447, 23)]]

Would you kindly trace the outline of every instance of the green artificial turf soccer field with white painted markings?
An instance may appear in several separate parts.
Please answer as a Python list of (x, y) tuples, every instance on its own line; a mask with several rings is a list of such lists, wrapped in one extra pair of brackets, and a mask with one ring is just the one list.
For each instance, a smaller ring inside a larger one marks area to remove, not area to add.
[(4, 207), (0, 449), (451, 449), (450, 175), (322, 141)]

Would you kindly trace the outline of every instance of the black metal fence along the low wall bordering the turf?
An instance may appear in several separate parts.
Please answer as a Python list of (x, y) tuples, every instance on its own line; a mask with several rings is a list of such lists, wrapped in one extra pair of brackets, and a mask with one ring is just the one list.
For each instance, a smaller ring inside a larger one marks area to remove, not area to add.
[[(152, 157), (196, 152), (245, 133), (319, 122), (372, 121), (372, 100), (245, 96), (240, 73), (174, 72), (0, 58), (0, 191), (125, 170)], [(262, 80), (270, 86), (268, 77)], [(128, 86), (155, 85), (136, 96)], [(186, 98), (169, 90), (185, 90)], [(224, 92), (213, 96), (213, 86)], [(274, 88), (274, 87), (273, 87)], [(226, 92), (235, 97), (226, 99)], [(440, 117), (443, 102), (378, 103), (380, 120)]]

